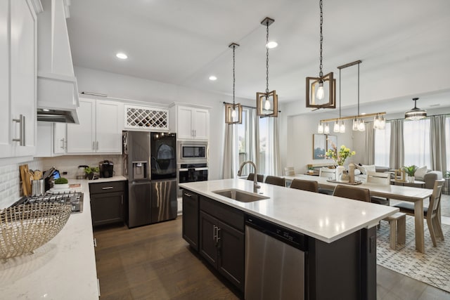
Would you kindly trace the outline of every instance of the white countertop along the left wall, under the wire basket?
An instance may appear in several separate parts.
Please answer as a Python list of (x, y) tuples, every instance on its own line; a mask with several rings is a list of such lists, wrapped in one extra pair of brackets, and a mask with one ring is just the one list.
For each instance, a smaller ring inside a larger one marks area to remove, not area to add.
[(71, 214), (60, 233), (34, 254), (0, 261), (1, 299), (98, 300), (89, 185), (69, 183), (82, 184), (83, 212)]

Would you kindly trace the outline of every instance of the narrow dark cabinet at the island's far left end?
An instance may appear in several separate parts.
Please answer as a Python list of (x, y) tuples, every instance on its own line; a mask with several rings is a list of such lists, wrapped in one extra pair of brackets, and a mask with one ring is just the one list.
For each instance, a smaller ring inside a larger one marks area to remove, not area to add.
[(183, 191), (183, 238), (198, 251), (198, 195)]

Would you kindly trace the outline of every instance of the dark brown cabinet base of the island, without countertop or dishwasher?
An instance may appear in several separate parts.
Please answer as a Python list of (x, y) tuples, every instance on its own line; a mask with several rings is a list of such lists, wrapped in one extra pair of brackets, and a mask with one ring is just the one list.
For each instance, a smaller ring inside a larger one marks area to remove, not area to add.
[[(261, 218), (191, 190), (183, 191), (184, 240), (243, 295), (245, 219), (249, 216)], [(304, 240), (304, 284), (298, 285), (304, 291), (300, 299), (377, 298), (375, 227), (331, 243), (307, 235)]]

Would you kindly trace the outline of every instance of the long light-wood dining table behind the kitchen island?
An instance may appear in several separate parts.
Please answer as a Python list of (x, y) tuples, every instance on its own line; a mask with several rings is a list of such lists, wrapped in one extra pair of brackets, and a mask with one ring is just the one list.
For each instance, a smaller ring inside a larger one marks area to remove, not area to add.
[[(330, 181), (326, 177), (317, 177), (298, 174), (295, 176), (284, 176), (287, 181), (293, 179), (303, 179), (309, 181), (317, 181), (319, 188), (334, 189), (338, 184), (349, 184), (348, 182), (338, 182)], [(362, 181), (361, 184), (352, 185), (355, 188), (367, 188), (371, 196), (385, 197), (387, 199), (395, 199), (406, 202), (414, 203), (414, 227), (416, 235), (416, 249), (419, 252), (425, 253), (425, 240), (424, 240), (424, 229), (423, 229), (423, 200), (430, 198), (433, 190), (428, 188), (413, 188), (410, 186), (403, 185), (381, 185), (378, 183), (367, 183)], [(377, 204), (379, 205), (379, 204)]]

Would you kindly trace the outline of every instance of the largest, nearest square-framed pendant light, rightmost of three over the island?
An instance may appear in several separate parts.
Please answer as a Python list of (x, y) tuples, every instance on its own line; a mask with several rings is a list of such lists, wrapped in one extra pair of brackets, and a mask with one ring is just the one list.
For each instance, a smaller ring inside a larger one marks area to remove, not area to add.
[(336, 108), (336, 79), (333, 79), (333, 72), (323, 76), (322, 72), (322, 52), (323, 52), (323, 10), (322, 0), (319, 1), (320, 8), (320, 55), (319, 55), (319, 77), (307, 77), (307, 107), (315, 108)]

